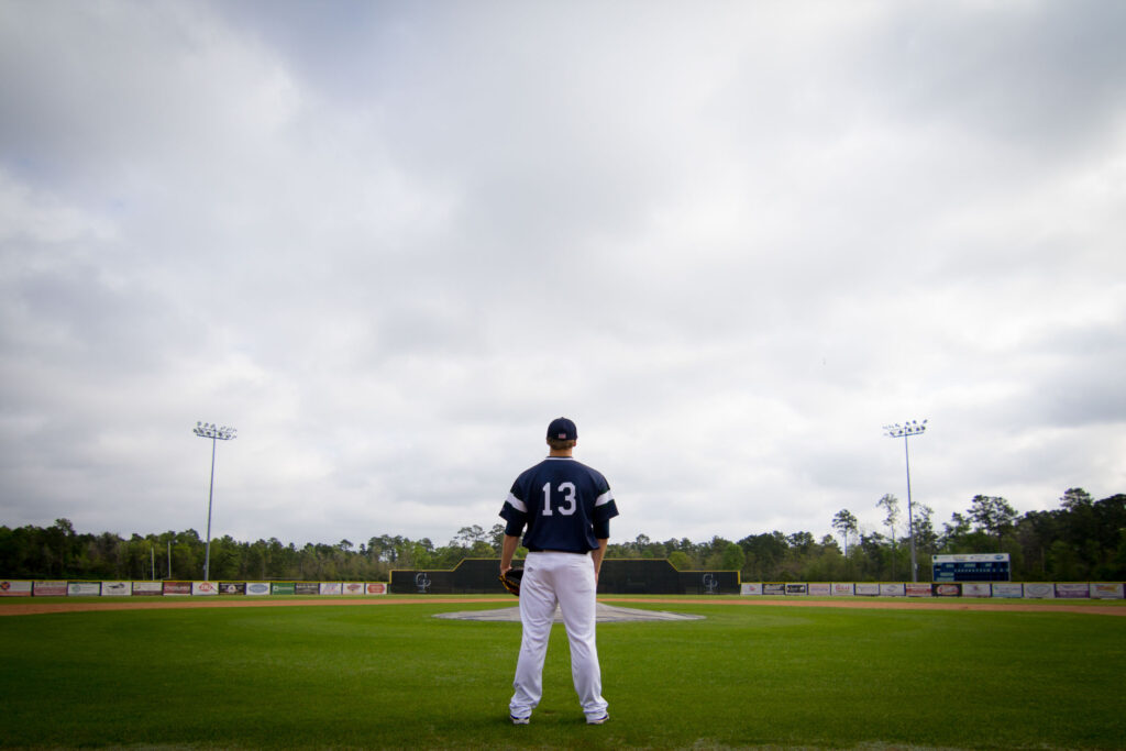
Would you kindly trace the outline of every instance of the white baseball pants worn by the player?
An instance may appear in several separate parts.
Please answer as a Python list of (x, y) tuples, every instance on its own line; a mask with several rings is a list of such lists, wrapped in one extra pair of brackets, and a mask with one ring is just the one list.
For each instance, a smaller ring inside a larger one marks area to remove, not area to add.
[(528, 553), (520, 580), (520, 658), (512, 681), (509, 710), (527, 717), (543, 696), (544, 659), (555, 619), (555, 605), (563, 614), (571, 645), (571, 677), (582, 712), (590, 718), (606, 714), (602, 673), (595, 644), (597, 623), (595, 563), (590, 554)]

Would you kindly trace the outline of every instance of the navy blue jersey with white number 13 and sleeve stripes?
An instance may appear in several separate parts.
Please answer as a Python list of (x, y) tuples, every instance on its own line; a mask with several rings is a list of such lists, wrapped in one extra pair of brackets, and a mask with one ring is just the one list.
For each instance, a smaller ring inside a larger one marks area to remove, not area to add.
[(571, 457), (549, 456), (525, 470), (500, 511), (506, 535), (519, 536), (531, 552), (586, 553), (610, 536), (618, 516), (610, 485), (597, 470)]

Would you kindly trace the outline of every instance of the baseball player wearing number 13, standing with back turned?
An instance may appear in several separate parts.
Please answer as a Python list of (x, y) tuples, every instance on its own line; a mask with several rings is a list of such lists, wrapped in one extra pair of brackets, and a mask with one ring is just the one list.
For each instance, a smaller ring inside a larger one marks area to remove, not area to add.
[(509, 716), (517, 725), (528, 723), (543, 694), (544, 659), (556, 604), (571, 644), (574, 690), (587, 722), (600, 725), (609, 718), (595, 644), (595, 593), (610, 519), (618, 516), (618, 509), (606, 477), (573, 458), (578, 439), (574, 422), (552, 420), (547, 458), (517, 477), (500, 512), (508, 522), (501, 575), (512, 567), (512, 554), (527, 527), (524, 546), (528, 557), (520, 582), (524, 632), (509, 703)]

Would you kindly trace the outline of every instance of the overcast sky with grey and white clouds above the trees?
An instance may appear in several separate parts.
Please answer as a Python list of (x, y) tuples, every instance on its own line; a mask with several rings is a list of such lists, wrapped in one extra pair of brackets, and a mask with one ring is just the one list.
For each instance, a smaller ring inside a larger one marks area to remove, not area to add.
[[(0, 0), (0, 525), (1126, 492), (1126, 3)], [(904, 525), (905, 526), (905, 525)], [(886, 529), (883, 531), (886, 533)], [(902, 530), (901, 530), (902, 534)]]

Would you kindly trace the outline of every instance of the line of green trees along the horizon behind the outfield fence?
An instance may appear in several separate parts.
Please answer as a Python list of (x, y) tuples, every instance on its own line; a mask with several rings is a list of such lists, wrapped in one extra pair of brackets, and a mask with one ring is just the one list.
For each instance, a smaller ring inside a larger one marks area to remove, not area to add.
[[(1024, 515), (1004, 498), (975, 495), (941, 530), (922, 503), (912, 506), (910, 519), (895, 495), (875, 506), (884, 513), (878, 530), (861, 529), (856, 515), (842, 509), (832, 519), (839, 537), (770, 531), (698, 543), (638, 535), (611, 542), (607, 557), (668, 558), (681, 571), (739, 570), (743, 581), (904, 581), (912, 578), (913, 542), (919, 581), (930, 581), (931, 555), (955, 553), (1008, 553), (1013, 581), (1126, 580), (1123, 493), (1096, 501), (1073, 488), (1058, 508)], [(500, 524), (463, 527), (441, 546), (401, 535), (301, 547), (276, 537), (248, 543), (224, 536), (212, 540), (211, 579), (387, 581), (392, 569), (453, 569), (466, 557), (499, 557), (503, 536)], [(0, 576), (10, 579), (202, 579), (205, 555), (206, 540), (195, 529), (125, 539), (78, 533), (68, 519), (46, 528), (0, 526)]]

